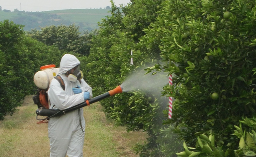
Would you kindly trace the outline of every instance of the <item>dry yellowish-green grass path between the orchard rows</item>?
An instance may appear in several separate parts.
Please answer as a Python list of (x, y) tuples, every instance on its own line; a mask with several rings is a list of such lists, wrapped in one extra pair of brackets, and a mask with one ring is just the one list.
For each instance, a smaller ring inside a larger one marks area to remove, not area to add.
[[(32, 96), (27, 96), (13, 116), (0, 122), (0, 157), (48, 157), (50, 152), (47, 124), (36, 124)], [(146, 133), (126, 132), (106, 119), (102, 106), (84, 107), (86, 120), (84, 156), (136, 157), (132, 147), (144, 143)]]

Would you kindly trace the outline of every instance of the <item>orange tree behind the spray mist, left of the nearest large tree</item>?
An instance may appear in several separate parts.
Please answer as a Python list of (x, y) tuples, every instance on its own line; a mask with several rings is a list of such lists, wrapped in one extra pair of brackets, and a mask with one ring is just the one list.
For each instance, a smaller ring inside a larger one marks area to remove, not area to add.
[[(162, 0), (135, 0), (128, 6), (121, 7), (122, 10), (112, 2), (112, 16), (101, 21), (97, 35), (92, 37), (90, 55), (84, 58), (88, 63), (84, 69), (85, 77), (93, 87), (94, 95), (115, 88), (129, 73), (137, 71), (136, 67), (144, 67), (152, 59), (160, 58), (160, 40), (158, 43), (150, 41), (144, 44), (140, 38), (146, 34), (144, 29), (156, 20), (161, 2)], [(135, 50), (134, 65), (130, 65), (131, 50)], [(141, 156), (155, 157), (163, 155), (156, 141), (163, 118), (163, 109), (159, 103), (154, 95), (138, 91), (118, 94), (101, 101), (106, 115), (115, 119), (118, 124), (126, 125), (128, 131), (148, 132), (147, 144), (138, 145), (136, 151)]]

